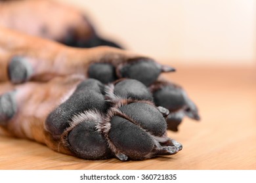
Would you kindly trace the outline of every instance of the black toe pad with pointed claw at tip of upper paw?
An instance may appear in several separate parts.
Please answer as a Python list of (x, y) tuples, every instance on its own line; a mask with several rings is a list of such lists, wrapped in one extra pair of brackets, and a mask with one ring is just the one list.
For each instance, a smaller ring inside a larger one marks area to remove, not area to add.
[(134, 58), (129, 59), (127, 64), (119, 68), (119, 75), (121, 78), (133, 78), (139, 80), (146, 86), (152, 84), (160, 75), (161, 72), (174, 71), (162, 67), (152, 59), (148, 58)]

